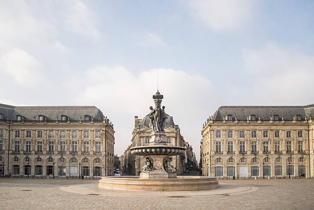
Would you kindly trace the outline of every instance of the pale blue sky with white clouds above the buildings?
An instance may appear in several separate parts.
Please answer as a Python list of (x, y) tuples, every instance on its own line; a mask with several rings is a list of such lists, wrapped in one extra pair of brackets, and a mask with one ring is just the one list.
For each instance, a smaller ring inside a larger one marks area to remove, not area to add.
[(0, 103), (95, 105), (131, 143), (157, 88), (200, 157), (223, 105), (314, 103), (313, 1), (0, 1)]

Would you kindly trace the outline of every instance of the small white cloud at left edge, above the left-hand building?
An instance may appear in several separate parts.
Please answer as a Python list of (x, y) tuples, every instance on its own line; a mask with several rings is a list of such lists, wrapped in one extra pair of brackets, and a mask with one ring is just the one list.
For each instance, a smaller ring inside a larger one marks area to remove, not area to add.
[(44, 82), (40, 63), (21, 49), (12, 49), (0, 57), (0, 72), (10, 75), (15, 84), (35, 86)]

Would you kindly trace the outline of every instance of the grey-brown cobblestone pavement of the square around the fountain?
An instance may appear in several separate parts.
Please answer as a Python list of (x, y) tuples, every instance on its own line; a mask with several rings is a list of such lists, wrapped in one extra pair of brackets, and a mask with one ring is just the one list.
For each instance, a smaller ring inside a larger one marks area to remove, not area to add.
[(219, 180), (258, 189), (225, 196), (184, 198), (103, 197), (60, 189), (60, 186), (97, 182), (0, 178), (0, 209), (314, 209), (314, 179)]

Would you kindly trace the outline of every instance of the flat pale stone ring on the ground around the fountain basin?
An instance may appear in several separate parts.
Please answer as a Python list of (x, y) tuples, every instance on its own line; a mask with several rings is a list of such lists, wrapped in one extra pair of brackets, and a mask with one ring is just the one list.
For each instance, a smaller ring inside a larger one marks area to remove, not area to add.
[(219, 188), (207, 190), (192, 191), (127, 191), (99, 188), (97, 183), (92, 184), (75, 184), (70, 186), (62, 186), (61, 190), (68, 193), (76, 193), (81, 195), (106, 196), (106, 197), (168, 197), (168, 198), (185, 198), (185, 197), (206, 197), (219, 196), (238, 193), (249, 193), (258, 189), (251, 185), (244, 184), (220, 184)]

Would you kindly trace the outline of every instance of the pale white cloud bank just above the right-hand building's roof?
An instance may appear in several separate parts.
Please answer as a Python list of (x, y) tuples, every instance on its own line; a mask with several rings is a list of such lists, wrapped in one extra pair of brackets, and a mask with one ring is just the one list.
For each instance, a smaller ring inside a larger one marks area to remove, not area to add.
[(311, 78), (314, 56), (296, 49), (284, 49), (267, 43), (262, 49), (244, 49), (244, 69), (250, 79), (247, 90), (262, 104), (304, 105), (313, 103)]

